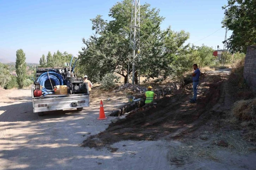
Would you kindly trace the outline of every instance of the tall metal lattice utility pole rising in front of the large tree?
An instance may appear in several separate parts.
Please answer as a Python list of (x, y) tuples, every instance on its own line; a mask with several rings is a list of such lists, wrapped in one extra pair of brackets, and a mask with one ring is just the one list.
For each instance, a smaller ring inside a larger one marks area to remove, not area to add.
[[(132, 18), (130, 25), (130, 48), (133, 49), (132, 57), (129, 57), (128, 69), (127, 69), (127, 82), (135, 82), (135, 73), (139, 77), (138, 82), (140, 83), (139, 69), (135, 71), (135, 63), (140, 59), (140, 0), (132, 0)], [(132, 75), (130, 75), (132, 73)]]

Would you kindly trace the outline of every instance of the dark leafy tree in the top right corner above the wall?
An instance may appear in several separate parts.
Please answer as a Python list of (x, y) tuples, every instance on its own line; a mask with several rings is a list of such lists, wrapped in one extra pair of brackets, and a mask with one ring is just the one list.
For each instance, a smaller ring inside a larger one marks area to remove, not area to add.
[(223, 27), (233, 31), (226, 40), (227, 48), (246, 53), (247, 46), (256, 43), (256, 1), (228, 0), (228, 5), (222, 8), (225, 10)]

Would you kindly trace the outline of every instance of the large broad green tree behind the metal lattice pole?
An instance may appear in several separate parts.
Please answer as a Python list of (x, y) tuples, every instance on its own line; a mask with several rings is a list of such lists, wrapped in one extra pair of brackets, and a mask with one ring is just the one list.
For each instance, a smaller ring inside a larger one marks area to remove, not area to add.
[[(91, 81), (100, 81), (105, 74), (115, 71), (124, 77), (124, 83), (127, 82), (127, 75), (131, 74), (127, 73), (128, 61), (133, 55), (129, 46), (131, 9), (131, 1), (123, 0), (110, 8), (112, 20), (106, 21), (101, 15), (91, 19), (95, 34), (83, 39), (85, 47), (79, 52), (81, 68)], [(185, 48), (183, 43), (189, 37), (184, 31), (173, 32), (170, 28), (162, 31), (163, 20), (159, 10), (150, 8), (150, 4), (140, 6), (140, 60), (137, 58), (135, 69), (147, 77), (157, 77), (161, 70), (166, 77), (173, 54)]]

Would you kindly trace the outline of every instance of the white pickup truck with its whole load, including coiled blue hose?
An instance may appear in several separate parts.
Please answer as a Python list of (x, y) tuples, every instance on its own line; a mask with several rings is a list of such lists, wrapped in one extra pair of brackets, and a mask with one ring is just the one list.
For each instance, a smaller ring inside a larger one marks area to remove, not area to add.
[[(83, 107), (89, 107), (88, 84), (76, 77), (73, 70), (74, 67), (36, 69), (36, 80), (32, 85), (34, 113), (42, 116), (45, 111), (71, 108), (82, 111)], [(64, 93), (56, 93), (57, 87), (65, 89)]]

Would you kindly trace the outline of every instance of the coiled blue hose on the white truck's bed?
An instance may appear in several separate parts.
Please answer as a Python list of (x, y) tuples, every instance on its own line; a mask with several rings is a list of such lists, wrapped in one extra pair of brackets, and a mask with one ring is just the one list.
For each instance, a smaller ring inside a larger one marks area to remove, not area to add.
[[(49, 76), (48, 76), (49, 74)], [(49, 80), (49, 77), (51, 79), (51, 81), (53, 81), (55, 83), (55, 86), (57, 85), (63, 85), (63, 77), (58, 74), (55, 73), (53, 71), (49, 71), (48, 73), (45, 72), (43, 73), (41, 76), (38, 77), (37, 82), (39, 82), (40, 86), (42, 86), (42, 92), (44, 92), (44, 96), (47, 94), (52, 94), (53, 92), (51, 92), (52, 90), (48, 90), (44, 87), (44, 83)]]

